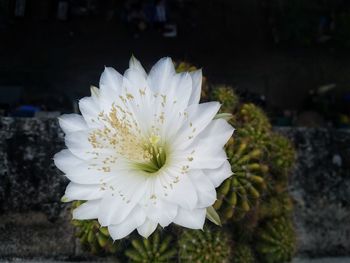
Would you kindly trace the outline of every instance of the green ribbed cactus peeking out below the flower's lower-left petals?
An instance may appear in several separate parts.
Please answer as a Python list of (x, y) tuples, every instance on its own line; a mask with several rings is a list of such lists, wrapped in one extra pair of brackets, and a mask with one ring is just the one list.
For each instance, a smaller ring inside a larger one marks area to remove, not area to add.
[[(83, 201), (76, 201), (72, 208), (81, 205)], [(79, 238), (82, 247), (96, 255), (115, 254), (119, 243), (113, 241), (106, 227), (101, 227), (97, 220), (72, 220), (76, 227), (76, 237)]]

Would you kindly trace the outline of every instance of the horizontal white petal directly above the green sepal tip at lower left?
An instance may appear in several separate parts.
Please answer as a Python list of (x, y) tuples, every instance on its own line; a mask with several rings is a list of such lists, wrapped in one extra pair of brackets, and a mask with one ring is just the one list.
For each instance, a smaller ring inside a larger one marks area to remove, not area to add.
[(96, 200), (104, 194), (99, 185), (86, 185), (70, 182), (66, 188), (65, 197), (69, 200)]

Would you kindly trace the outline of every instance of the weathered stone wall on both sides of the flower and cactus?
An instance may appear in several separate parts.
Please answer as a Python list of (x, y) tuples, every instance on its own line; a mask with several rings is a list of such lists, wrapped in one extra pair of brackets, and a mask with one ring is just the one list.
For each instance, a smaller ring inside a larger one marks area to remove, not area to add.
[[(350, 132), (276, 130), (298, 150), (290, 191), (299, 254), (350, 255)], [(68, 181), (52, 157), (63, 147), (54, 119), (0, 118), (0, 258), (86, 256), (60, 202)]]

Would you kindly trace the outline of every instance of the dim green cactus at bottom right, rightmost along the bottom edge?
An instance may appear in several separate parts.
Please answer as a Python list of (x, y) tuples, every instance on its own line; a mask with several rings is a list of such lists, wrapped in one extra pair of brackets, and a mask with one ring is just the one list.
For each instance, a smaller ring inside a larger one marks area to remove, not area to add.
[(266, 221), (256, 233), (255, 248), (262, 262), (290, 262), (296, 251), (291, 219), (277, 217)]

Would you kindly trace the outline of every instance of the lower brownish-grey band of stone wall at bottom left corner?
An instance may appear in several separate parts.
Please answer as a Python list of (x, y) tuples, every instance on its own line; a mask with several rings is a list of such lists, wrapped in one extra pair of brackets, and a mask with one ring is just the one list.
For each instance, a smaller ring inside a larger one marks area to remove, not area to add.
[(0, 255), (2, 257), (74, 256), (74, 229), (63, 209), (50, 222), (42, 212), (5, 213), (0, 216)]

